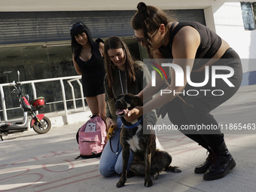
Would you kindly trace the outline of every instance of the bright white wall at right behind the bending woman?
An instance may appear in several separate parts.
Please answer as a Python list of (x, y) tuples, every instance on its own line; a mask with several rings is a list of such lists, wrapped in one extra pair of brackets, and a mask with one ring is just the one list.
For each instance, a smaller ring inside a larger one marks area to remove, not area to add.
[(243, 72), (256, 71), (254, 62), (248, 62), (256, 59), (256, 31), (245, 31), (240, 2), (225, 2), (213, 16), (217, 34), (241, 57)]

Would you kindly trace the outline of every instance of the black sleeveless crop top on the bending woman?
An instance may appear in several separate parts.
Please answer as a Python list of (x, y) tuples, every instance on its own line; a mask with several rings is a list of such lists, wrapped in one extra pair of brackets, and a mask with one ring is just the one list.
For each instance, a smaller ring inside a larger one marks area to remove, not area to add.
[[(200, 23), (194, 21), (188, 22), (179, 22), (175, 29), (173, 29), (174, 23), (170, 27), (169, 32), (169, 44), (166, 47), (161, 46), (159, 48), (160, 53), (163, 54), (168, 59), (173, 59), (172, 56), (172, 41), (177, 32), (184, 26), (192, 26), (200, 34), (200, 46), (197, 48), (196, 60), (194, 62), (193, 69), (200, 69), (206, 64), (206, 62), (212, 58), (212, 56), (217, 53), (218, 49), (221, 47), (221, 38), (215, 33), (212, 32), (206, 26), (203, 26)], [(173, 31), (172, 31), (173, 29)], [(200, 60), (202, 59), (202, 60)]]

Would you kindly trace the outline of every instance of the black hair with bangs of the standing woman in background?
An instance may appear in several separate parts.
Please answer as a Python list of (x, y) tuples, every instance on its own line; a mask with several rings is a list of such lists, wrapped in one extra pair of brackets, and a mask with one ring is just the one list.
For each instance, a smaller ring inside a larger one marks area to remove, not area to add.
[(78, 44), (78, 41), (75, 40), (75, 36), (81, 35), (83, 32), (87, 35), (88, 42), (90, 43), (90, 47), (93, 50), (96, 49), (96, 45), (93, 41), (93, 37), (90, 33), (90, 30), (84, 23), (78, 22), (75, 23), (71, 28), (70, 28), (70, 35), (71, 35), (71, 47), (72, 47), (72, 53), (75, 53), (75, 56), (80, 55), (82, 46), (81, 44)]

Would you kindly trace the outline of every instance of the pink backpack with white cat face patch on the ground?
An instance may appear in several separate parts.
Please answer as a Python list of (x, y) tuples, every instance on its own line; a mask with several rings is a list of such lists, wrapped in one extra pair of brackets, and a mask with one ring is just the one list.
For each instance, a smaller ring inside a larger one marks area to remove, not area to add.
[(106, 143), (106, 126), (102, 117), (94, 115), (78, 130), (76, 139), (82, 158), (99, 157)]

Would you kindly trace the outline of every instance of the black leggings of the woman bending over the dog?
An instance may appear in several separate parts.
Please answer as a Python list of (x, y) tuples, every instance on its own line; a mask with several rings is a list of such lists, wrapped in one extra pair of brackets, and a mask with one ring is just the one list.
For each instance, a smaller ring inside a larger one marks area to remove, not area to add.
[[(184, 89), (184, 93), (180, 93), (185, 102), (183, 102), (178, 96), (175, 97), (171, 102), (166, 104), (168, 107), (169, 120), (174, 125), (177, 125), (179, 130), (184, 133), (190, 139), (193, 139), (203, 148), (209, 150), (209, 148), (216, 148), (224, 142), (224, 135), (218, 130), (181, 130), (184, 126), (214, 126), (218, 127), (218, 123), (215, 118), (209, 112), (226, 102), (230, 97), (232, 97), (236, 91), (239, 89), (242, 82), (242, 65), (238, 54), (229, 48), (221, 59), (218, 59), (212, 66), (230, 66), (234, 69), (234, 75), (228, 80), (234, 85), (234, 87), (229, 87), (226, 82), (221, 78), (216, 78), (216, 86), (212, 87), (212, 67), (209, 69), (209, 82), (203, 87), (191, 87), (189, 84)], [(218, 75), (229, 74), (227, 70), (217, 70)], [(200, 83), (205, 80), (205, 72), (192, 72), (190, 75), (192, 82)], [(187, 90), (189, 90), (187, 92)], [(207, 90), (207, 91), (202, 91)], [(210, 90), (210, 91), (209, 91)], [(222, 90), (218, 91), (218, 90)], [(212, 91), (214, 91), (212, 94)], [(197, 96), (188, 96), (198, 95)], [(205, 96), (206, 94), (206, 96)], [(223, 95), (222, 95), (223, 94)], [(218, 96), (217, 96), (218, 95)], [(220, 96), (222, 95), (222, 96)], [(193, 105), (191, 107), (190, 105)]]

